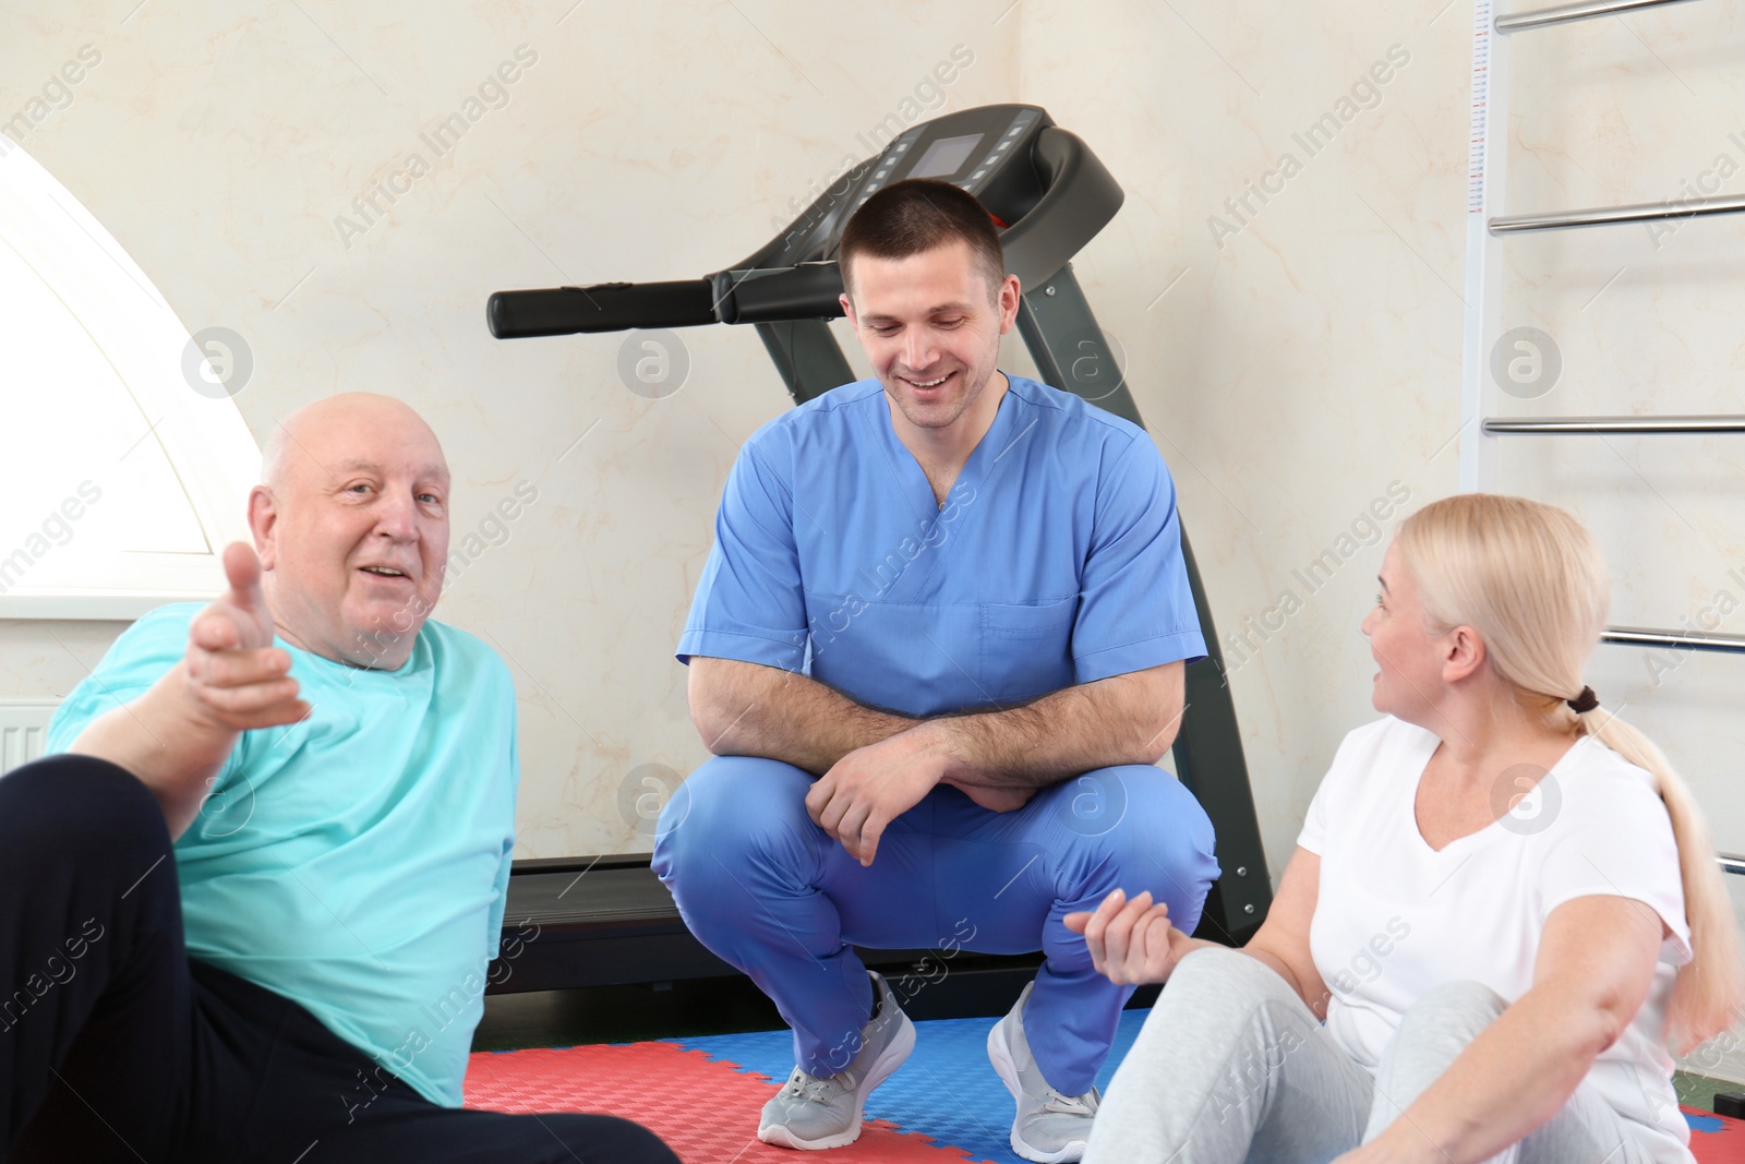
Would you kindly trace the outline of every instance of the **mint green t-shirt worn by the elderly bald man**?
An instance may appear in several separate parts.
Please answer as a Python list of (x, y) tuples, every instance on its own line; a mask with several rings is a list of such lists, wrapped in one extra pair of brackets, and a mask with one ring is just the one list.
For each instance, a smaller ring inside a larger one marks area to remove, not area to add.
[[(47, 750), (174, 667), (201, 609), (129, 627), (56, 710)], [(300, 1003), (459, 1106), (515, 845), (510, 672), (435, 621), (393, 672), (276, 646), (312, 712), (244, 731), (176, 841), (188, 956)]]

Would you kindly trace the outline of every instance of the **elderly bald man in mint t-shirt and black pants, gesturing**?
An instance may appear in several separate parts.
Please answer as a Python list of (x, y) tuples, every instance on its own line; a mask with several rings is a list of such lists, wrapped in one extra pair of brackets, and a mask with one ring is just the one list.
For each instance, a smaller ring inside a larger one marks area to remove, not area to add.
[(448, 485), (407, 405), (304, 408), (229, 590), (129, 627), (0, 778), (0, 1161), (677, 1159), (457, 1110), (518, 773), (508, 670), (429, 621)]

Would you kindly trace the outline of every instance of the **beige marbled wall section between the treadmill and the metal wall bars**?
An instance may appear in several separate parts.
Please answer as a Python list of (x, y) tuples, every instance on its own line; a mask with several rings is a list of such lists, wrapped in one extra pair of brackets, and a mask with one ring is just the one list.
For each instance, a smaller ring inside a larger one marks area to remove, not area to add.
[(1078, 270), (1181, 490), (1274, 878), (1373, 717), (1384, 529), (1457, 483), (1471, 5), (1441, 7), (1024, 9), (1026, 98), (1127, 188)]

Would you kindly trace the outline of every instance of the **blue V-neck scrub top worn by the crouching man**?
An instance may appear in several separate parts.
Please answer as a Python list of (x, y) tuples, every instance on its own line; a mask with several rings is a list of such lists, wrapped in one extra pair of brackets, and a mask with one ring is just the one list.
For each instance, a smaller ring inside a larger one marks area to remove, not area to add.
[(754, 433), (679, 660), (763, 663), (941, 716), (1202, 658), (1174, 482), (1150, 436), (1009, 379), (944, 504), (878, 380)]

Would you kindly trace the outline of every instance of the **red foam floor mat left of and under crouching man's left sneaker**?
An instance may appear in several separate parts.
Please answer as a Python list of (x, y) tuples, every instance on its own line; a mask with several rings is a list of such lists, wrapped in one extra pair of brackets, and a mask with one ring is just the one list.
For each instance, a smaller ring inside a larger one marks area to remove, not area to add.
[[(794, 1164), (796, 1152), (757, 1140), (757, 1115), (775, 1094), (766, 1075), (740, 1072), (677, 1044), (553, 1047), (475, 1054), (466, 1106), (487, 1112), (599, 1112), (632, 1119), (684, 1164)], [(831, 1152), (843, 1164), (965, 1164), (961, 1148), (939, 1147), (885, 1120), (867, 1120), (860, 1140)]]

